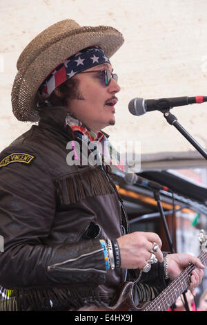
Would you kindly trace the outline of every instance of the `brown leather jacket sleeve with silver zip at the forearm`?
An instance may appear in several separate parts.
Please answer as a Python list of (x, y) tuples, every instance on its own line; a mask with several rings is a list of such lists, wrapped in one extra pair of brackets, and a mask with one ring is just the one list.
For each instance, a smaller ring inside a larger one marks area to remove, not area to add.
[[(55, 219), (56, 189), (37, 153), (26, 152), (34, 156), (31, 163), (19, 161), (0, 167), (1, 286), (102, 284), (106, 270), (99, 239), (44, 244)], [(1, 154), (0, 161), (8, 154)]]

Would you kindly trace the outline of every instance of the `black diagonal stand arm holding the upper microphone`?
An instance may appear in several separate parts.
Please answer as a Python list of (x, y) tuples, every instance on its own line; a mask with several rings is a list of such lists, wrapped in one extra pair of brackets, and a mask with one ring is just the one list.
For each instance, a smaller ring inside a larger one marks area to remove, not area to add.
[(181, 124), (177, 122), (177, 118), (175, 117), (175, 115), (172, 115), (170, 111), (167, 110), (164, 111), (164, 118), (166, 118), (167, 122), (170, 125), (173, 125), (173, 127), (175, 127), (188, 140), (188, 142), (190, 142), (191, 145), (193, 145), (193, 147), (195, 147), (195, 149), (197, 149), (197, 151), (199, 151), (199, 153), (207, 160), (206, 150), (204, 150), (204, 148), (202, 148), (201, 145), (199, 145), (199, 143), (192, 136), (190, 136), (190, 134), (184, 129), (184, 127), (182, 127)]

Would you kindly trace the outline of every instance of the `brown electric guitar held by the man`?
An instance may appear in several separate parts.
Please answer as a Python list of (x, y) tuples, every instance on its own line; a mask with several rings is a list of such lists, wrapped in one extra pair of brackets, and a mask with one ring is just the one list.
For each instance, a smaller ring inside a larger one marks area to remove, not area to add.
[[(207, 234), (204, 234), (204, 230), (199, 233), (199, 241), (201, 247), (201, 254), (199, 259), (201, 263), (206, 266), (207, 263)], [(129, 310), (129, 311), (166, 311), (176, 299), (184, 293), (184, 290), (188, 288), (190, 284), (190, 274), (195, 269), (193, 264), (189, 264), (188, 268), (181, 272), (179, 277), (173, 280), (155, 299), (135, 306), (133, 301), (133, 282), (126, 282), (119, 287), (117, 292), (119, 299), (115, 304), (108, 306), (107, 310)]]

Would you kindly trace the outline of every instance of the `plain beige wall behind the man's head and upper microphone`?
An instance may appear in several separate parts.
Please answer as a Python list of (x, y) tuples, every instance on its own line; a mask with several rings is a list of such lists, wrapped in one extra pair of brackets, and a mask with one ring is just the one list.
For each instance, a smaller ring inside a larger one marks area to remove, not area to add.
[[(21, 50), (44, 28), (72, 18), (81, 26), (110, 25), (126, 39), (111, 62), (122, 91), (111, 139), (140, 140), (141, 154), (192, 147), (159, 112), (133, 117), (133, 97), (207, 95), (206, 0), (10, 0), (0, 1), (0, 150), (30, 124), (13, 116), (10, 91)], [(207, 147), (207, 104), (173, 109), (179, 122)]]

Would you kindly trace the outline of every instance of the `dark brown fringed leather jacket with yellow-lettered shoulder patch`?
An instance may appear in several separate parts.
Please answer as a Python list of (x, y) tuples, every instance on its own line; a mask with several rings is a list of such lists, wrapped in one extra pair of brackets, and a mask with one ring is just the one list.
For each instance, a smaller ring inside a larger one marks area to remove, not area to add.
[[(67, 165), (65, 119), (62, 107), (45, 109), (0, 155), (0, 284), (13, 309), (108, 304), (126, 276), (106, 272), (99, 243), (127, 229), (122, 203), (106, 169)], [(156, 268), (144, 277), (162, 288), (163, 266)]]

